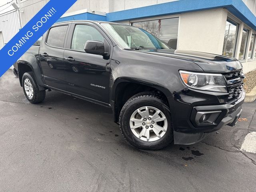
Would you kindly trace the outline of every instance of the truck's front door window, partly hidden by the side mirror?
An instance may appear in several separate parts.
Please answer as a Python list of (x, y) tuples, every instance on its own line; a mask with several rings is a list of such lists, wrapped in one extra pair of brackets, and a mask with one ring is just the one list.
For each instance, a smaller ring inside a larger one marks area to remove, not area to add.
[(96, 28), (90, 25), (76, 25), (71, 49), (84, 51), (84, 45), (86, 41), (104, 41), (104, 37)]

